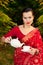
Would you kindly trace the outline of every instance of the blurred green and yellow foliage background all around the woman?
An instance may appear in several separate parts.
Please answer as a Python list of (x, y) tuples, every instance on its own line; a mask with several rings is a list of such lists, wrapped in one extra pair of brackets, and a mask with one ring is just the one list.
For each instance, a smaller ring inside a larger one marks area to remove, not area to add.
[[(43, 38), (43, 0), (0, 0), (0, 38), (12, 27), (22, 24), (21, 11), (25, 7), (33, 9), (33, 24), (39, 28)], [(14, 65), (13, 53), (14, 48), (0, 40), (0, 65)]]

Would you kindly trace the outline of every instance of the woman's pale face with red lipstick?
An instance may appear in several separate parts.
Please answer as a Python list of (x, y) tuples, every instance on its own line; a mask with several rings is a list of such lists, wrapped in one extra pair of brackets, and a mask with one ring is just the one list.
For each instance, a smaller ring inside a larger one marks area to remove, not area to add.
[(24, 24), (31, 25), (33, 23), (33, 19), (34, 19), (32, 11), (23, 12), (22, 19), (23, 19)]

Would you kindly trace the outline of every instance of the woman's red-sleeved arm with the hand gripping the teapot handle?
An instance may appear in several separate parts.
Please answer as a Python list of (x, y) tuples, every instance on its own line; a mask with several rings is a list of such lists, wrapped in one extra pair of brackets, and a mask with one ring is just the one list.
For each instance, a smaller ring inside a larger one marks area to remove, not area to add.
[(9, 43), (11, 38), (16, 36), (16, 33), (17, 33), (16, 29), (17, 29), (17, 27), (14, 27), (7, 34), (2, 36), (2, 38), (1, 38), (2, 42)]

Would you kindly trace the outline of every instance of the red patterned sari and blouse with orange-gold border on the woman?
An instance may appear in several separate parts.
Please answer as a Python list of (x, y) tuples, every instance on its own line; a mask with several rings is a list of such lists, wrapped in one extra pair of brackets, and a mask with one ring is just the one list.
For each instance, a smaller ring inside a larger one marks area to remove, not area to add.
[(39, 30), (36, 28), (27, 35), (24, 35), (18, 26), (14, 27), (9, 31), (5, 37), (18, 37), (21, 42), (25, 45), (31, 46), (32, 48), (39, 49), (39, 54), (31, 55), (26, 52), (22, 52), (22, 48), (15, 49), (14, 52), (14, 65), (43, 65), (43, 44)]

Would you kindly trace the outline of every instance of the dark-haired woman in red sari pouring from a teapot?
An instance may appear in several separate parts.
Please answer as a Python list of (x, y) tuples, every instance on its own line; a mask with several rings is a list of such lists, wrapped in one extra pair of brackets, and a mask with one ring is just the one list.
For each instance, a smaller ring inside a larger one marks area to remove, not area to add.
[[(38, 28), (31, 25), (34, 20), (34, 13), (31, 8), (22, 11), (22, 20), (23, 25), (15, 26), (2, 37), (2, 41), (9, 43), (11, 37), (16, 36), (24, 43), (23, 46), (15, 49), (15, 65), (43, 65), (42, 38)], [(28, 48), (25, 50), (24, 47), (28, 46), (30, 46), (29, 50)]]

